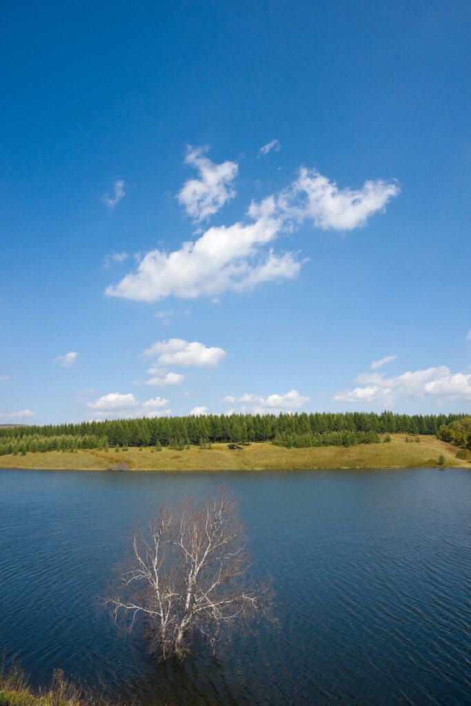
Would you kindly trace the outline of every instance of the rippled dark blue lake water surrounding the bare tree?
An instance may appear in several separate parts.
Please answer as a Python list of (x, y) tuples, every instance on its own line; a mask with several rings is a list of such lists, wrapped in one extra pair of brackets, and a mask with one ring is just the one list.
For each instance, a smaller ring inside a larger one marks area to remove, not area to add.
[[(133, 527), (225, 484), (280, 626), (156, 664), (100, 609)], [(471, 473), (0, 471), (0, 651), (144, 706), (471, 704)]]

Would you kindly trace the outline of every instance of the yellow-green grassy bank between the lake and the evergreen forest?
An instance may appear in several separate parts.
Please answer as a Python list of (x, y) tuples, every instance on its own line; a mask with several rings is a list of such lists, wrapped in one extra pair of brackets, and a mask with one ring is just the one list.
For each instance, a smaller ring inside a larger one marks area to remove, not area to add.
[[(114, 449), (107, 452), (80, 450), (75, 453), (50, 451), (0, 457), (0, 468), (106, 470), (126, 463), (133, 470), (213, 471), (289, 470), (328, 468), (420, 468), (436, 466), (445, 457), (446, 467), (470, 468), (468, 461), (455, 458), (457, 448), (432, 436), (405, 442), (404, 434), (393, 434), (390, 443), (318, 448), (283, 448), (271, 443), (253, 443), (244, 450), (229, 450), (227, 444), (212, 449), (196, 446), (183, 451), (163, 448)], [(410, 438), (410, 437), (409, 437)]]

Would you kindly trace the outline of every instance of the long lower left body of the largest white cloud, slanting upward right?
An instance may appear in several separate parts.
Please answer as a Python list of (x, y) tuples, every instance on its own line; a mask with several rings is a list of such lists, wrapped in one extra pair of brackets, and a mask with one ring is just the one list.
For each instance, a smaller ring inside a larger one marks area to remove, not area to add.
[(283, 219), (276, 210), (275, 199), (266, 198), (249, 208), (251, 223), (212, 227), (171, 253), (150, 251), (136, 272), (107, 287), (105, 294), (136, 301), (157, 301), (170, 295), (195, 299), (295, 277), (302, 263), (292, 253), (276, 256), (263, 250), (282, 229)]

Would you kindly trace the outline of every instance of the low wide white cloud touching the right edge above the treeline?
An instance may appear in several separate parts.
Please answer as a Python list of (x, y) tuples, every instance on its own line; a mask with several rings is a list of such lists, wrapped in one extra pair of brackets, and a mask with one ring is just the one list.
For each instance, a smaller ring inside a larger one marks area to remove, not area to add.
[(367, 402), (390, 406), (399, 397), (438, 397), (453, 402), (471, 402), (471, 373), (452, 373), (443, 365), (425, 370), (407, 371), (387, 378), (384, 373), (362, 373), (359, 386), (334, 395), (336, 402)]

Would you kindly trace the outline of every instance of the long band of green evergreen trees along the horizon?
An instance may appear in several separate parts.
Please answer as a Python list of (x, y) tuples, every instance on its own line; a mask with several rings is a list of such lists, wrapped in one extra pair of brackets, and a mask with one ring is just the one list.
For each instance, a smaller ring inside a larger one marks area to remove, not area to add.
[[(49, 443), (72, 444), (76, 448), (99, 448), (110, 446), (187, 445), (217, 442), (245, 443), (250, 441), (274, 441), (291, 436), (318, 436), (333, 432), (349, 433), (408, 433), (434, 435), (441, 426), (459, 421), (464, 414), (393, 414), (392, 412), (312, 412), (306, 414), (208, 414), (207, 417), (160, 417), (159, 419), (118, 419), (107, 421), (83, 421), (81, 424), (58, 424), (48, 426), (15, 426), (0, 429), (0, 447), (30, 440), (37, 450), (40, 440), (49, 438)], [(66, 441), (67, 438), (67, 441)], [(326, 436), (326, 440), (327, 440)], [(337, 437), (331, 437), (336, 439)], [(347, 437), (344, 437), (347, 439)], [(350, 438), (350, 437), (348, 437)], [(352, 437), (353, 438), (353, 437)], [(358, 437), (359, 438), (359, 437)], [(55, 439), (55, 441), (52, 441)], [(84, 441), (87, 439), (87, 441)], [(61, 441), (60, 441), (61, 440)], [(307, 441), (311, 441), (307, 439)], [(79, 444), (94, 443), (93, 447)], [(341, 441), (340, 443), (343, 443)], [(357, 443), (359, 443), (357, 441)], [(365, 443), (365, 442), (360, 442)], [(28, 449), (32, 450), (32, 448)], [(55, 450), (55, 448), (46, 449)], [(13, 453), (13, 452), (12, 452)]]

